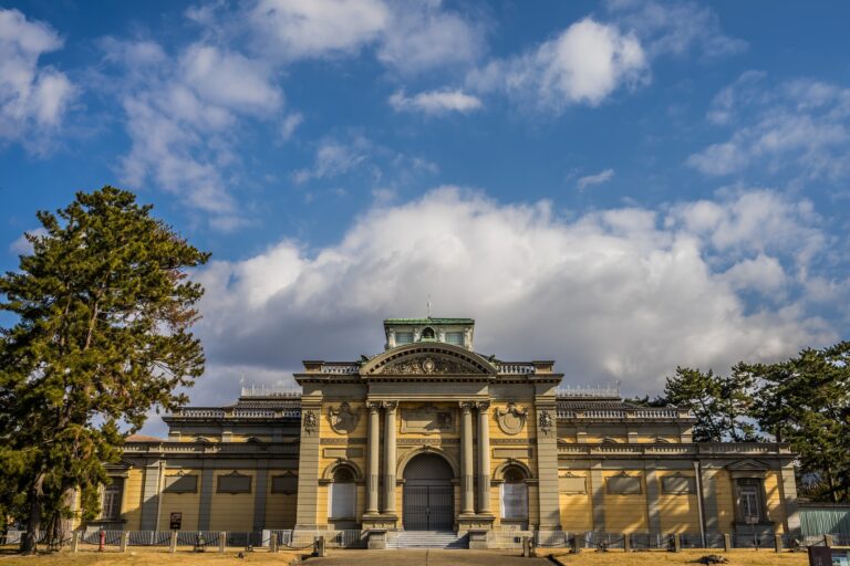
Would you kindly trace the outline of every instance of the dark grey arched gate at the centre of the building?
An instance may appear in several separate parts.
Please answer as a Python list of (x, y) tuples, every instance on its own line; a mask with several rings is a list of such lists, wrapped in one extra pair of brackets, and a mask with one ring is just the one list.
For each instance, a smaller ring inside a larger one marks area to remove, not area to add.
[(453, 531), (452, 467), (437, 454), (419, 454), (404, 467), (405, 531)]

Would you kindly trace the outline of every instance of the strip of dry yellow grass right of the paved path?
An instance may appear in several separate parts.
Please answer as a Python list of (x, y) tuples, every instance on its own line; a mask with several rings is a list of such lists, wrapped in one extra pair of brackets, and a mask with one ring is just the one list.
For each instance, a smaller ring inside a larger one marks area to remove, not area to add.
[(698, 564), (697, 558), (717, 554), (729, 559), (729, 566), (807, 566), (809, 558), (806, 553), (782, 552), (775, 553), (769, 549), (760, 551), (732, 551), (724, 553), (721, 551), (682, 551), (681, 553), (667, 552), (644, 552), (644, 553), (624, 553), (608, 552), (597, 553), (585, 551), (581, 554), (554, 553), (554, 557), (566, 566), (631, 566), (631, 565), (653, 565), (666, 566), (674, 564)]

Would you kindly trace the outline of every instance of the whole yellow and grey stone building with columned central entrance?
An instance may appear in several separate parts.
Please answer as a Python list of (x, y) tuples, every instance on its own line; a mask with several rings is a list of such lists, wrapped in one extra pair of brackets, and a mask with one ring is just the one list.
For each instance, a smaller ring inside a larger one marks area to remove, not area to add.
[(474, 348), (470, 318), (390, 318), (356, 361), (307, 360), (300, 391), (242, 388), (225, 407), (131, 437), (95, 525), (125, 531), (799, 532), (784, 443), (694, 442), (694, 418), (562, 387), (551, 360)]

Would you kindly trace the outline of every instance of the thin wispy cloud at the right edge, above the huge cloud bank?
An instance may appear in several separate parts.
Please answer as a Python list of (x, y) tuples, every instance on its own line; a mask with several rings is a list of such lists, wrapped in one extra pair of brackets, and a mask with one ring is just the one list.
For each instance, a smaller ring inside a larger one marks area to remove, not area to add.
[(747, 72), (715, 96), (707, 118), (732, 132), (688, 157), (705, 175), (758, 169), (798, 182), (850, 176), (850, 88), (811, 80), (774, 85)]

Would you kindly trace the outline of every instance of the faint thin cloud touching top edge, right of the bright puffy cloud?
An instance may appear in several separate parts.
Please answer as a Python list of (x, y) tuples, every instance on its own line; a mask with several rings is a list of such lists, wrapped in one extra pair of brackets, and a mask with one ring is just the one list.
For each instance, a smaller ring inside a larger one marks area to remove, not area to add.
[(711, 8), (696, 2), (610, 0), (607, 8), (616, 22), (638, 33), (650, 57), (684, 55), (692, 50), (719, 57), (747, 49), (745, 41), (723, 33)]

